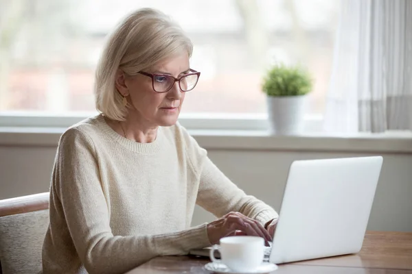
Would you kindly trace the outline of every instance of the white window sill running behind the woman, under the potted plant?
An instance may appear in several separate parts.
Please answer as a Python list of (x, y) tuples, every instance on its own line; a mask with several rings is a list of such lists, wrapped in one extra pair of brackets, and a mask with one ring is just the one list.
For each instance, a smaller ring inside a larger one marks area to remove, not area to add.
[[(0, 127), (0, 146), (56, 147), (61, 127)], [(412, 133), (273, 136), (262, 130), (203, 130), (190, 134), (205, 149), (412, 153)]]

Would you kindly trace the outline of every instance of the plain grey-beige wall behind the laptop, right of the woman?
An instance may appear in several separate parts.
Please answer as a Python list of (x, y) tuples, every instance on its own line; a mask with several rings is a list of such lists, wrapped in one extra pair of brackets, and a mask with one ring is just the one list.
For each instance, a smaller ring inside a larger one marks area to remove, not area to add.
[[(288, 167), (293, 160), (356, 157), (374, 154), (293, 151), (213, 151), (220, 169), (248, 194), (279, 210)], [(368, 229), (412, 232), (412, 155), (384, 154), (384, 165), (372, 206)], [(244, 168), (247, 166), (247, 168)], [(350, 197), (348, 197), (350, 199)], [(203, 210), (194, 216), (201, 223)]]

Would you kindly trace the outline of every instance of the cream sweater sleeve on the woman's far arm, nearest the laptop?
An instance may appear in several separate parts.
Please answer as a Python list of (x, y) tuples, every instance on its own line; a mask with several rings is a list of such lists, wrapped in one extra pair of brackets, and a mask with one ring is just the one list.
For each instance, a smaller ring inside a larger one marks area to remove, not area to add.
[(196, 140), (185, 129), (187, 154), (194, 172), (199, 174), (200, 185), (196, 203), (221, 217), (229, 212), (240, 212), (264, 225), (271, 219), (277, 219), (278, 214), (263, 201), (247, 195), (233, 184), (231, 180), (218, 169), (207, 157), (207, 151), (200, 147)]

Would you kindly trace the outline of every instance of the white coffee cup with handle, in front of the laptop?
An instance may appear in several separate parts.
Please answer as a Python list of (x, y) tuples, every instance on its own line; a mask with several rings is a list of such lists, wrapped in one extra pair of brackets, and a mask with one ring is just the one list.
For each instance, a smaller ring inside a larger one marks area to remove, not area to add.
[[(221, 260), (214, 257), (214, 251), (220, 252)], [(232, 271), (255, 271), (264, 258), (264, 239), (256, 236), (230, 236), (220, 239), (220, 246), (210, 250), (210, 260), (225, 264)]]

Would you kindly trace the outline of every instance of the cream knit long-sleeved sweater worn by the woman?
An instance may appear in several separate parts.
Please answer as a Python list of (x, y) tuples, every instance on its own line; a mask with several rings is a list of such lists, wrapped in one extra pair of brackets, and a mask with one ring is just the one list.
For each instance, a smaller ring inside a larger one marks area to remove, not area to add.
[(196, 203), (216, 216), (238, 211), (262, 224), (277, 218), (179, 124), (139, 143), (102, 115), (82, 121), (58, 145), (43, 273), (124, 273), (155, 256), (207, 247), (207, 224), (190, 227)]

